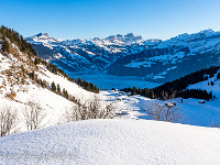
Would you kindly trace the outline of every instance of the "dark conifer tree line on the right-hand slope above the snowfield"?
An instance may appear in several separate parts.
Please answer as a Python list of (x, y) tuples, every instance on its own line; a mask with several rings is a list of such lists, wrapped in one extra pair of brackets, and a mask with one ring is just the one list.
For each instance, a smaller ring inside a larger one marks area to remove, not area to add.
[[(170, 98), (177, 98), (183, 97), (184, 99), (187, 98), (198, 98), (198, 99), (205, 99), (209, 100), (212, 99), (212, 92), (208, 92), (207, 90), (201, 89), (186, 89), (188, 85), (197, 84), (199, 81), (207, 80), (208, 78), (211, 78), (217, 74), (219, 70), (219, 66), (212, 66), (206, 69), (201, 69), (195, 73), (191, 73), (189, 75), (186, 75), (179, 79), (173, 80), (170, 82), (166, 82), (162, 86), (158, 86), (153, 89), (148, 88), (124, 88), (121, 89), (122, 91), (130, 91), (131, 95), (141, 95), (144, 97), (148, 97), (152, 99), (170, 99)], [(220, 79), (220, 74), (218, 73), (217, 79)]]

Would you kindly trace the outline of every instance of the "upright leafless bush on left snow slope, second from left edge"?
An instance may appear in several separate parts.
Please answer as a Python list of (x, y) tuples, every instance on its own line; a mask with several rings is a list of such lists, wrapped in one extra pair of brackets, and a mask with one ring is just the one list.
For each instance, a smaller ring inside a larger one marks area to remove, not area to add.
[(37, 101), (29, 101), (23, 111), (24, 122), (28, 130), (35, 130), (44, 127), (45, 113)]

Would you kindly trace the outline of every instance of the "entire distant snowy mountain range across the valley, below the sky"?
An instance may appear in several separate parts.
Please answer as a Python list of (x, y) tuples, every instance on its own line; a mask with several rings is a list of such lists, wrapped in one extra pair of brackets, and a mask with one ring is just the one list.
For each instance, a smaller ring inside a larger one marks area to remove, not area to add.
[(106, 38), (66, 40), (37, 34), (28, 37), (37, 54), (66, 72), (140, 76), (166, 82), (219, 65), (220, 32), (205, 30), (167, 41), (143, 40), (130, 33)]

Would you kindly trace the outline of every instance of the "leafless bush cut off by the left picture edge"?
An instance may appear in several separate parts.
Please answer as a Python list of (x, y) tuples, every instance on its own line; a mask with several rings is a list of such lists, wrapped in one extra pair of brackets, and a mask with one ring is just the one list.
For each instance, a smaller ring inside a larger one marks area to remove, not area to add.
[(0, 109), (0, 136), (4, 136), (16, 132), (16, 125), (19, 123), (16, 110), (12, 110), (9, 106), (3, 106)]

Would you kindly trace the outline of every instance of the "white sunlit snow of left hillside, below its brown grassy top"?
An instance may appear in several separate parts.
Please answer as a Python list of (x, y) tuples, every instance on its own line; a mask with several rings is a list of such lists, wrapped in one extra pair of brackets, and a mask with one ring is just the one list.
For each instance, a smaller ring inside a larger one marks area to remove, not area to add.
[[(25, 56), (21, 53), (21, 56)], [(20, 56), (20, 57), (21, 57)], [(16, 62), (16, 63), (14, 63)], [(75, 103), (65, 99), (61, 95), (57, 95), (50, 89), (42, 88), (40, 85), (35, 84), (29, 77), (22, 77), (20, 64), (22, 64), (13, 55), (10, 58), (0, 54), (0, 106), (10, 107), (18, 111), (19, 118), (21, 119), (16, 129), (19, 131), (25, 131), (24, 123), (24, 110), (29, 101), (34, 101), (44, 110), (45, 119), (43, 125), (54, 125), (62, 122), (62, 116), (65, 110), (72, 108)], [(25, 65), (23, 63), (22, 65)], [(26, 66), (26, 68), (30, 68)], [(31, 69), (31, 68), (30, 68)], [(59, 84), (61, 91), (66, 89), (72, 97), (80, 100), (84, 103), (86, 100), (91, 98), (95, 94), (86, 91), (75, 82), (67, 80), (67, 78), (61, 75), (54, 75), (48, 72), (45, 66), (37, 65), (35, 69), (35, 75), (42, 80), (45, 80), (47, 86), (51, 86), (53, 81)], [(9, 76), (12, 75), (12, 76)], [(20, 81), (20, 78), (24, 79), (24, 82)], [(14, 97), (11, 97), (13, 95)]]

